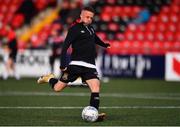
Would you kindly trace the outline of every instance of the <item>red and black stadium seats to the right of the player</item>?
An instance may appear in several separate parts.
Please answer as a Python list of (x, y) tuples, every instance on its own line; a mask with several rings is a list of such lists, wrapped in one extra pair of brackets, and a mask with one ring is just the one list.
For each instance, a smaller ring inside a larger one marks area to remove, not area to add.
[[(178, 0), (101, 1), (96, 4), (96, 8), (99, 7), (102, 13), (95, 22), (100, 28), (95, 28), (99, 36), (111, 42), (109, 53), (161, 55), (180, 51)], [(150, 19), (141, 24), (133, 23), (145, 7), (150, 11)]]

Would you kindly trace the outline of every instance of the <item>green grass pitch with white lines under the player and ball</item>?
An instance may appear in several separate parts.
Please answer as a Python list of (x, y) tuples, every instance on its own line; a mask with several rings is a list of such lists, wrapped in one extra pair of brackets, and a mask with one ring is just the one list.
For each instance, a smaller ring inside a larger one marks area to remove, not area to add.
[(110, 79), (101, 84), (103, 122), (81, 119), (89, 104), (87, 87), (61, 93), (36, 79), (0, 80), (1, 126), (180, 126), (180, 83), (163, 80)]

